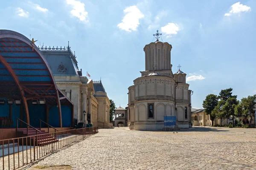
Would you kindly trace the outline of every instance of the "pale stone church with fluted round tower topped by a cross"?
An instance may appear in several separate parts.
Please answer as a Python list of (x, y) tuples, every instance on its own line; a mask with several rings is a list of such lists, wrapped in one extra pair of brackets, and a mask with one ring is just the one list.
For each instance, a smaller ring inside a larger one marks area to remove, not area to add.
[(134, 130), (162, 130), (164, 116), (176, 116), (175, 128), (191, 127), (191, 90), (186, 74), (172, 73), (172, 45), (145, 45), (145, 71), (128, 88), (128, 125)]

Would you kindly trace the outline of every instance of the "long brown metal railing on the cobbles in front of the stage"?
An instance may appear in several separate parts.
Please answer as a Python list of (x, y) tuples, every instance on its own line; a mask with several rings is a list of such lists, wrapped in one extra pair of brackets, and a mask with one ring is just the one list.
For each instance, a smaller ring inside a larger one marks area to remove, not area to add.
[(0, 152), (0, 170), (15, 170), (36, 163), (45, 156), (80, 142), (97, 132), (98, 127), (85, 127), (0, 140), (2, 151)]

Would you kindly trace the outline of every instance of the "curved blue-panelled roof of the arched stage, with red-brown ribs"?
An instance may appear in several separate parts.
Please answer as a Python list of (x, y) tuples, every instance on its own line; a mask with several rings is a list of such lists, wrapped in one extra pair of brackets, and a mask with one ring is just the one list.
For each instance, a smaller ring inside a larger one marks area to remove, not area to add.
[(57, 87), (47, 61), (32, 41), (15, 31), (0, 30), (1, 96), (45, 99), (52, 105), (59, 99), (73, 105)]

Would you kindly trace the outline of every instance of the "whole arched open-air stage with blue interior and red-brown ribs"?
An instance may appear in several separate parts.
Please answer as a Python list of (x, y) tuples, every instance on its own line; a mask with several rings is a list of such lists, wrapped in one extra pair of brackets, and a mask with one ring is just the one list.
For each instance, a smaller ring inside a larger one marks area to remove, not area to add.
[(73, 123), (73, 103), (58, 89), (41, 52), (28, 38), (9, 30), (0, 30), (0, 105), (4, 119), (17, 117), (34, 126), (42, 119), (62, 127), (62, 116), (70, 114), (69, 125)]

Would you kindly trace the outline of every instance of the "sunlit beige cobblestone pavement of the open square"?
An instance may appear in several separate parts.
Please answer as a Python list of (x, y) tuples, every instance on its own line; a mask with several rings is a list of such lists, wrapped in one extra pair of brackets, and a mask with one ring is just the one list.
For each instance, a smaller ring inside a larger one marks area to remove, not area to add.
[(73, 170), (256, 170), (256, 129), (194, 127), (176, 132), (100, 129), (37, 165)]

